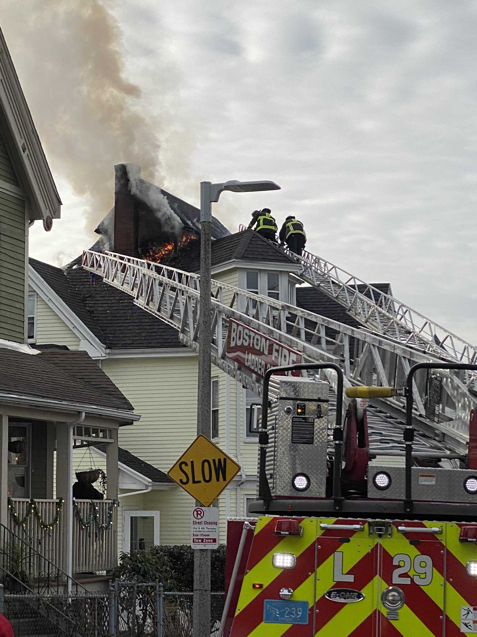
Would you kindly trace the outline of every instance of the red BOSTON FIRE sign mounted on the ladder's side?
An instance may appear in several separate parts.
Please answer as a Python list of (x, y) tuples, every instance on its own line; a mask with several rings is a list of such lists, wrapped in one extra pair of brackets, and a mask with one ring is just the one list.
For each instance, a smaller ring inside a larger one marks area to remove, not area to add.
[[(242, 325), (230, 318), (227, 333), (227, 358), (260, 378), (271, 367), (294, 365), (301, 362), (300, 352), (285, 347), (279, 341)], [(293, 375), (299, 376), (300, 372)]]

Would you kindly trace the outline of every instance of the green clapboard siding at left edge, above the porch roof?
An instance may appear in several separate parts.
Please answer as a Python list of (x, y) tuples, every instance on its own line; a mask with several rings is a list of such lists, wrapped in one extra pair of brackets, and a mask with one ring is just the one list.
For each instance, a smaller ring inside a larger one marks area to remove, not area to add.
[(24, 197), (0, 188), (0, 338), (16, 343), (25, 341), (25, 218)]

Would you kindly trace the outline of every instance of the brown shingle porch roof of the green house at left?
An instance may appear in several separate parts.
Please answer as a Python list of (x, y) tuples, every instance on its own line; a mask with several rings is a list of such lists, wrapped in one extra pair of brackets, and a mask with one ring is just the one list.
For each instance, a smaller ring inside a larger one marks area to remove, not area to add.
[(132, 412), (132, 404), (86, 352), (24, 354), (0, 348), (0, 392)]

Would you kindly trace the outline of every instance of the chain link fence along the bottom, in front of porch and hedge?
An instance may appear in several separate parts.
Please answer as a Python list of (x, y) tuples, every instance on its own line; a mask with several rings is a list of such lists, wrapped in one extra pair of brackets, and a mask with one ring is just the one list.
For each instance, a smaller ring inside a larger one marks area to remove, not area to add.
[[(224, 594), (211, 594), (211, 637), (218, 637)], [(4, 594), (0, 612), (15, 637), (192, 637), (193, 594), (154, 583), (115, 582), (108, 592)]]

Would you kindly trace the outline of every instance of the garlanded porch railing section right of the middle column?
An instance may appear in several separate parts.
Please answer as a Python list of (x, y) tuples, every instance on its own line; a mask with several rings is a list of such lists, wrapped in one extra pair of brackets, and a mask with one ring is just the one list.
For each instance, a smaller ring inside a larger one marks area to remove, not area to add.
[(115, 500), (74, 500), (73, 573), (108, 571), (117, 564)]

